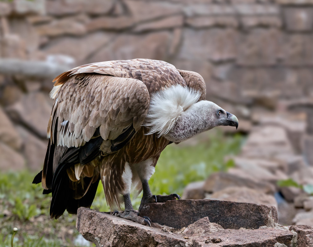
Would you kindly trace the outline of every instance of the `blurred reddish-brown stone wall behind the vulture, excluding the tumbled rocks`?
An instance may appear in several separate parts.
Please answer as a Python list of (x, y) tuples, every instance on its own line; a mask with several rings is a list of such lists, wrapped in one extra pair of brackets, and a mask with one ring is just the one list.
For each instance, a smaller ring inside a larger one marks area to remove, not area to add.
[(0, 68), (2, 170), (41, 167), (51, 80), (75, 65), (150, 58), (196, 71), (242, 132), (313, 96), (310, 0), (13, 0), (0, 19), (0, 64), (13, 62)]

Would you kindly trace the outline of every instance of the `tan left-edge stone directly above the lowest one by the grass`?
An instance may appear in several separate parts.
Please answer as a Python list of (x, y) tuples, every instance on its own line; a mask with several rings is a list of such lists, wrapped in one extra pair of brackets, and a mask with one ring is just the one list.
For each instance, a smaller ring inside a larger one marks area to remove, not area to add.
[(0, 107), (0, 142), (9, 147), (19, 150), (22, 146), (22, 139), (13, 126), (11, 120)]

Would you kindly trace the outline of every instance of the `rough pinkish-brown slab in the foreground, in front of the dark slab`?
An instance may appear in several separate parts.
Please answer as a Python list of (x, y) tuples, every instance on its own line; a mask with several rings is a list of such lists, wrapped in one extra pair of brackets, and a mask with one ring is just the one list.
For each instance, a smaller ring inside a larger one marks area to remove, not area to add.
[(273, 247), (276, 243), (290, 246), (297, 236), (286, 229), (223, 229), (207, 217), (189, 229), (170, 231), (170, 227), (148, 227), (88, 208), (79, 208), (77, 214), (76, 228), (98, 247)]

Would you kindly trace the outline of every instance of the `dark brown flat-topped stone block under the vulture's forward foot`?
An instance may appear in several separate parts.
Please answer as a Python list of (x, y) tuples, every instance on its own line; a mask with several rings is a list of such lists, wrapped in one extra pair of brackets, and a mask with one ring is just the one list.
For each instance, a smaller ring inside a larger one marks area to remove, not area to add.
[(225, 229), (274, 227), (278, 222), (277, 210), (273, 206), (208, 199), (149, 203), (142, 208), (140, 215), (176, 229), (187, 227), (204, 217)]

